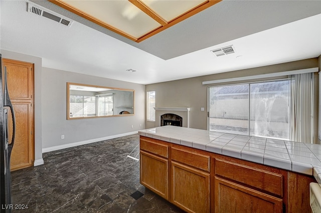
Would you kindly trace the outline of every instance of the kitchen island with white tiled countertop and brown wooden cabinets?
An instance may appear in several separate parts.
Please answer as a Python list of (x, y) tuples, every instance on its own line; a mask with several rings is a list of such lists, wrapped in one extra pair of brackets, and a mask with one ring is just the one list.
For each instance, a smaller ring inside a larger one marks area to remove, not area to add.
[(139, 135), (140, 183), (187, 212), (311, 212), (319, 145), (176, 126)]

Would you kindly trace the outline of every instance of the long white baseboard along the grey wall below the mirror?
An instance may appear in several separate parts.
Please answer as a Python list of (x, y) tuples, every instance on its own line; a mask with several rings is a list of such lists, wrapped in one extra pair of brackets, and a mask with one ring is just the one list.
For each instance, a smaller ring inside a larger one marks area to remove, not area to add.
[(74, 146), (85, 145), (85, 144), (89, 144), (89, 143), (95, 143), (95, 142), (102, 141), (102, 140), (109, 140), (109, 139), (113, 139), (113, 138), (117, 138), (117, 137), (133, 135), (133, 134), (137, 134), (137, 133), (138, 133), (138, 131), (126, 132), (126, 133), (122, 133), (122, 134), (110, 135), (110, 136), (106, 136), (106, 137), (84, 140), (84, 141), (79, 141), (79, 142), (75, 142), (75, 143), (68, 143), (68, 144), (63, 144), (63, 145), (59, 145), (59, 146), (52, 146), (52, 147), (48, 147), (48, 148), (43, 148), (42, 153), (56, 151), (56, 150), (60, 150), (60, 149), (66, 149), (66, 148), (70, 148), (70, 147), (74, 147)]

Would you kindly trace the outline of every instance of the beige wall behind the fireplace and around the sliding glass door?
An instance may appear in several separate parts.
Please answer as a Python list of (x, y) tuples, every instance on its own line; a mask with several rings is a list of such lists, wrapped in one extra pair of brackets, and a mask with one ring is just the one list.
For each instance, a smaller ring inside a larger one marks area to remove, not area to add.
[[(319, 57), (320, 59), (320, 57)], [(203, 81), (237, 78), (244, 76), (277, 73), (299, 69), (320, 67), (318, 58), (301, 61), (288, 62), (283, 64), (238, 70), (227, 73), (219, 73), (195, 78), (188, 78), (176, 81), (162, 82), (146, 85), (146, 92), (155, 91), (156, 107), (191, 107), (190, 127), (207, 129), (207, 88), (210, 85), (202, 85)], [(287, 77), (287, 76), (284, 76)], [(284, 78), (283, 77), (283, 78)], [(280, 78), (280, 77), (278, 77)], [(260, 79), (263, 80), (263, 79)], [(257, 81), (257, 80), (254, 80)], [(247, 81), (248, 82), (248, 81)], [(235, 82), (233, 82), (235, 83)], [(240, 83), (240, 82), (239, 82)], [(226, 84), (226, 83), (225, 83)], [(318, 97), (318, 75), (315, 74), (315, 98)], [(318, 99), (315, 100), (315, 132), (317, 138), (317, 117)], [(201, 111), (201, 107), (205, 110)], [(155, 127), (155, 122), (146, 121), (146, 128)]]

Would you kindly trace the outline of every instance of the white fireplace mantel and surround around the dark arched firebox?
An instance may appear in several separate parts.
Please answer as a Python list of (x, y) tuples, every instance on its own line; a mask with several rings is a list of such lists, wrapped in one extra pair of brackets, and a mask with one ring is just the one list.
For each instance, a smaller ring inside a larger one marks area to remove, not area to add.
[(183, 127), (190, 128), (190, 107), (154, 107), (155, 109), (155, 123), (161, 126), (161, 115), (164, 113), (162, 111), (167, 111), (167, 113), (175, 112), (183, 118)]

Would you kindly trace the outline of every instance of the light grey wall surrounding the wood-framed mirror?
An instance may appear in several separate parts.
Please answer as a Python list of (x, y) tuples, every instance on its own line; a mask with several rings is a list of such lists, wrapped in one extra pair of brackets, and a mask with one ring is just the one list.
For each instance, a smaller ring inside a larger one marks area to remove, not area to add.
[[(67, 120), (67, 82), (133, 89), (134, 115)], [(42, 68), (41, 85), (43, 149), (68, 146), (145, 128), (145, 85), (45, 67)], [(65, 138), (61, 139), (61, 135)]]

